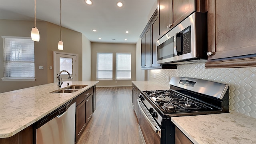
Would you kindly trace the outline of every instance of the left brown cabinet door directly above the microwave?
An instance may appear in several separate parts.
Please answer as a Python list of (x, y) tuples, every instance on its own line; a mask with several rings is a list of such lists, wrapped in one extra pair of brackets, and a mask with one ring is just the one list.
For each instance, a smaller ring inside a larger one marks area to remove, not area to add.
[(159, 38), (164, 36), (172, 24), (172, 0), (158, 0)]

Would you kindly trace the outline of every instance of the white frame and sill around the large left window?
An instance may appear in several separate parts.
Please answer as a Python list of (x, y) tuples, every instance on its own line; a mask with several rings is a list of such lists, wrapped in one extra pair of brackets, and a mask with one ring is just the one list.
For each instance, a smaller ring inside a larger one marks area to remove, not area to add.
[[(5, 46), (5, 39), (6, 38), (18, 38), (18, 39), (30, 39), (31, 40), (30, 37), (2, 36), (2, 39), (3, 39), (3, 54), (2, 54), (2, 56), (3, 56), (3, 58), (2, 58), (2, 60), (3, 60), (3, 67), (2, 68), (3, 69), (4, 69), (4, 65), (5, 65), (4, 51), (6, 49), (6, 46)], [(34, 56), (35, 56), (35, 54), (34, 54)], [(35, 60), (34, 60), (34, 77), (8, 77), (8, 78), (5, 78), (3, 76), (3, 78), (1, 78), (1, 79), (2, 79), (2, 81), (35, 81), (36, 80), (36, 78), (35, 78)]]

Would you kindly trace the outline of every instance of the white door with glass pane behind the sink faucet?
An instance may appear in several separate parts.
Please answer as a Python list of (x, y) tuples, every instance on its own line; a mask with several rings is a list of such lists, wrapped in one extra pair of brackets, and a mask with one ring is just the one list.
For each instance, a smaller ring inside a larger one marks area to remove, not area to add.
[(54, 52), (54, 82), (58, 82), (58, 74), (62, 70), (66, 70), (72, 76), (72, 80), (68, 79), (68, 73), (62, 72), (60, 78), (62, 81), (77, 81), (76, 54), (67, 54), (62, 52)]

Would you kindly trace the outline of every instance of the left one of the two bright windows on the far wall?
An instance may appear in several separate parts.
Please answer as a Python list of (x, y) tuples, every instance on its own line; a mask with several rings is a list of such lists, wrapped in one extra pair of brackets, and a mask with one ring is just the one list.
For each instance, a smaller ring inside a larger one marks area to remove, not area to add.
[(113, 53), (97, 52), (97, 76), (98, 80), (112, 80)]

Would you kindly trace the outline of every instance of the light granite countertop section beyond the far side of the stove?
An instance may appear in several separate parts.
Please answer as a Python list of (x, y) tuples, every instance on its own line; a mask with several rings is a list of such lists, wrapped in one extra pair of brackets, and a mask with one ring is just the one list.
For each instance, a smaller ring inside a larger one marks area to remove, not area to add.
[(170, 87), (161, 86), (150, 81), (132, 81), (132, 83), (140, 90), (169, 90)]

